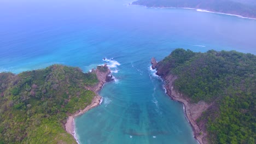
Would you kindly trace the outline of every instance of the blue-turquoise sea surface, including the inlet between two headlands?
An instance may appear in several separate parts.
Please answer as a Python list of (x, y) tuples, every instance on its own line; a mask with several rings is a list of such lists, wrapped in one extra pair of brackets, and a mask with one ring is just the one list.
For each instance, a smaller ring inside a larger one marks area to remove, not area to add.
[(197, 143), (150, 58), (179, 47), (255, 54), (256, 20), (131, 2), (0, 1), (0, 71), (108, 63), (115, 81), (100, 91), (100, 106), (75, 118), (79, 143)]

